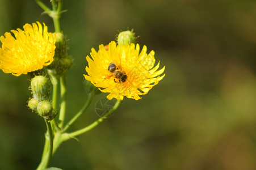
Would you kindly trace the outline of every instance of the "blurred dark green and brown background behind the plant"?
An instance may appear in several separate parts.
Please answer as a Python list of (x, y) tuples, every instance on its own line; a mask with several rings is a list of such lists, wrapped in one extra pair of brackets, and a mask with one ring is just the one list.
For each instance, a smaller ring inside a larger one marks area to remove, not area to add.
[[(50, 6), (49, 1), (43, 1)], [(134, 29), (154, 50), (165, 78), (142, 99), (127, 99), (95, 129), (58, 149), (62, 169), (256, 169), (256, 2), (253, 0), (65, 1), (61, 26), (75, 66), (68, 118), (86, 101), (83, 74), (92, 47)], [(34, 1), (0, 0), (0, 35), (36, 21)], [(0, 71), (0, 169), (35, 169), (46, 130), (26, 107), (28, 77)], [(70, 128), (98, 118), (95, 104)]]

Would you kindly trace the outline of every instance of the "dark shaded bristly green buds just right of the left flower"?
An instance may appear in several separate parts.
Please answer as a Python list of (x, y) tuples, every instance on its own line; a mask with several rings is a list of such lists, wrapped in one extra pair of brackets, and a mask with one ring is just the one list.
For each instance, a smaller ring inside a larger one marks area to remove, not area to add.
[(73, 64), (73, 58), (71, 56), (68, 56), (67, 50), (68, 50), (68, 44), (66, 37), (63, 35), (63, 33), (57, 32), (54, 33), (56, 36), (56, 49), (55, 49), (55, 55), (54, 60), (51, 63), (51, 65), (48, 66), (49, 70), (52, 70), (52, 73), (56, 76), (61, 76), (66, 73)]

